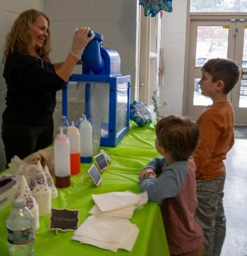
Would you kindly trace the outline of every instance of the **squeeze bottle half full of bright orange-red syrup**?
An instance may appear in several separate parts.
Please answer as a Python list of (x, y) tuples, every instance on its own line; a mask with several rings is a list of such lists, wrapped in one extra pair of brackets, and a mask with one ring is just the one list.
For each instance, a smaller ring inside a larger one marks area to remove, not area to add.
[(81, 170), (81, 147), (80, 133), (72, 121), (72, 126), (69, 126), (67, 136), (70, 143), (70, 174), (79, 174)]

